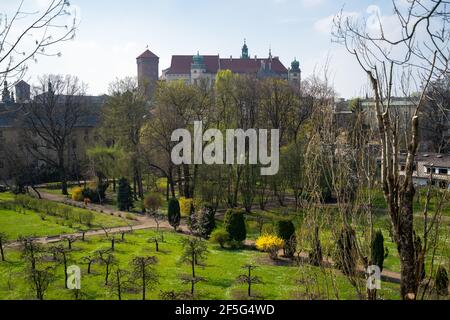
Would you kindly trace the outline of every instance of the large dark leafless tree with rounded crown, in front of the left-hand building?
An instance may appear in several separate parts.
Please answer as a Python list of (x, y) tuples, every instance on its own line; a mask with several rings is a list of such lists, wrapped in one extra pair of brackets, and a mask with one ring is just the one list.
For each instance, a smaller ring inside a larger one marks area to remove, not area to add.
[(67, 195), (68, 151), (77, 126), (87, 116), (84, 86), (72, 76), (45, 76), (25, 107), (23, 145), (35, 160), (55, 169)]

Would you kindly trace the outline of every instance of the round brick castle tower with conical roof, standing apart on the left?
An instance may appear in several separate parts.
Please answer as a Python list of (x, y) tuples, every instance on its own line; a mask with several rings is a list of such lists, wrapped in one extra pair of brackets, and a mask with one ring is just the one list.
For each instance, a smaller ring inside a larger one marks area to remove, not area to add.
[(139, 88), (151, 98), (156, 87), (159, 75), (159, 57), (150, 50), (136, 58), (138, 67)]

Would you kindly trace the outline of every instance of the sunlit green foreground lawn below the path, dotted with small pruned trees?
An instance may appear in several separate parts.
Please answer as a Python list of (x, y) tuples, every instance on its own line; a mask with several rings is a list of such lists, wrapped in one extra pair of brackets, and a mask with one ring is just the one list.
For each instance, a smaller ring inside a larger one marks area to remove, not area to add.
[[(159, 284), (148, 292), (149, 299), (159, 299), (161, 291), (186, 292), (190, 285), (182, 284), (180, 275), (188, 274), (190, 267), (179, 264), (181, 256), (180, 240), (184, 235), (173, 232), (165, 232), (165, 242), (160, 244), (161, 251), (155, 252), (154, 244), (147, 243), (147, 239), (156, 235), (156, 232), (138, 231), (127, 235), (125, 242), (116, 243), (114, 254), (121, 268), (129, 269), (128, 264), (133, 256), (156, 256), (158, 264), (156, 270), (159, 273)], [(103, 237), (89, 238), (86, 242), (76, 242), (74, 250), (70, 254), (70, 264), (78, 264), (82, 268), (82, 295), (85, 299), (116, 299), (115, 295), (104, 284), (104, 269), (102, 265), (93, 266), (93, 274), (86, 274), (86, 265), (81, 264), (83, 256), (92, 254), (95, 250), (106, 249), (109, 241)], [(235, 279), (245, 273), (241, 267), (248, 263), (258, 265), (254, 275), (262, 278), (264, 284), (255, 285), (254, 290), (263, 299), (293, 299), (304, 293), (306, 288), (299, 284), (301, 275), (312, 277), (317, 274), (320, 282), (325, 279), (319, 269), (304, 266), (274, 265), (267, 254), (250, 250), (231, 251), (220, 249), (216, 245), (208, 245), (209, 254), (204, 268), (198, 268), (199, 276), (206, 282), (196, 285), (198, 299), (233, 299), (238, 292), (245, 292), (245, 286), (236, 283)], [(7, 262), (0, 263), (0, 300), (7, 299), (34, 299), (25, 279), (25, 264), (20, 260), (17, 250), (7, 250)], [(339, 288), (340, 299), (356, 299), (355, 290), (342, 275), (336, 275), (336, 285)], [(330, 282), (330, 279), (328, 279)], [(333, 292), (332, 288), (329, 288)], [(382, 284), (380, 294), (385, 299), (398, 299), (398, 285), (392, 283)], [(124, 293), (124, 299), (140, 299), (139, 292)], [(336, 299), (333, 295), (330, 299)], [(50, 285), (46, 299), (73, 299), (73, 292), (64, 289), (64, 273), (62, 266), (57, 269), (55, 282)]]

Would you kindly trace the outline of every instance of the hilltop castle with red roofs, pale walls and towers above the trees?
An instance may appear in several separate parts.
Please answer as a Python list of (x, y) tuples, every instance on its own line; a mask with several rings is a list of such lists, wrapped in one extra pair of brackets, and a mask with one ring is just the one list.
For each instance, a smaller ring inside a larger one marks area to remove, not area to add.
[(279, 57), (272, 56), (269, 50), (267, 58), (251, 58), (246, 41), (241, 51), (240, 58), (221, 58), (219, 55), (174, 55), (170, 67), (162, 71), (158, 79), (159, 58), (150, 50), (146, 50), (137, 57), (139, 84), (147, 94), (150, 94), (158, 80), (175, 81), (182, 80), (187, 84), (197, 84), (207, 81), (214, 84), (217, 73), (220, 70), (230, 70), (236, 74), (253, 75), (257, 78), (280, 78), (287, 80), (293, 87), (300, 89), (301, 70), (297, 59), (287, 69)]

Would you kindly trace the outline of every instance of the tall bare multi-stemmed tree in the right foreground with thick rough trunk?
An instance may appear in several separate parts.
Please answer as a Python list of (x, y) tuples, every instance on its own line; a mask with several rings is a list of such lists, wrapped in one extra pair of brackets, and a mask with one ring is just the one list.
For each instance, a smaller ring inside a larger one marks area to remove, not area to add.
[[(442, 0), (412, 0), (407, 8), (392, 1), (396, 25), (400, 32), (387, 30), (378, 17), (376, 31), (366, 21), (345, 17), (335, 18), (334, 39), (343, 44), (367, 74), (373, 90), (378, 122), (378, 139), (382, 149), (381, 175), (384, 196), (394, 227), (394, 239), (401, 262), (401, 297), (416, 299), (421, 281), (422, 264), (417, 261), (418, 243), (414, 235), (413, 172), (419, 146), (420, 112), (426, 102), (426, 92), (432, 80), (448, 72), (448, 2)], [(373, 29), (373, 28), (372, 28)], [(420, 98), (401, 145), (398, 117), (392, 97), (400, 91), (411, 93), (411, 86), (420, 87)], [(406, 149), (404, 176), (399, 174), (399, 158)]]

